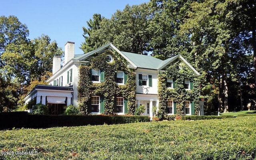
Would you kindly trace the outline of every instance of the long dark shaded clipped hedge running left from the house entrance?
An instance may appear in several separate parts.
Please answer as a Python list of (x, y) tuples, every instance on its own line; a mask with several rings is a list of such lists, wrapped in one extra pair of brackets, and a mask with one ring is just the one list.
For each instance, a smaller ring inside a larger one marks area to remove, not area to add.
[(106, 115), (30, 115), (27, 112), (0, 113), (0, 130), (12, 128), (49, 128), (58, 126), (84, 126), (150, 122), (148, 116)]

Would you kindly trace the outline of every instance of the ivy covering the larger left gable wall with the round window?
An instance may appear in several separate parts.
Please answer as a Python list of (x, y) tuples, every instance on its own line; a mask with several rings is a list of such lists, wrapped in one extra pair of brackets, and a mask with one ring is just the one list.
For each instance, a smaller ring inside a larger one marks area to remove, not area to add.
[[(106, 55), (112, 55), (113, 61), (106, 62)], [(104, 70), (104, 82), (92, 83), (90, 79), (91, 69)], [(117, 85), (115, 81), (117, 71), (127, 74), (125, 85)], [(96, 54), (90, 61), (90, 65), (80, 65), (78, 81), (78, 109), (82, 115), (90, 114), (88, 106), (92, 95), (104, 97), (104, 114), (114, 115), (115, 97), (123, 97), (128, 100), (127, 110), (129, 115), (134, 114), (136, 101), (136, 73), (128, 69), (125, 59), (118, 53), (110, 50)], [(125, 109), (126, 110), (126, 109)]]

